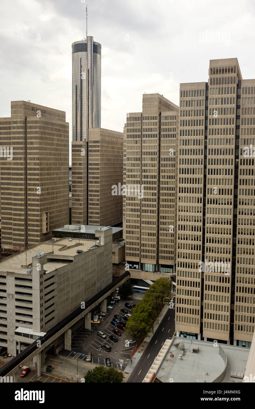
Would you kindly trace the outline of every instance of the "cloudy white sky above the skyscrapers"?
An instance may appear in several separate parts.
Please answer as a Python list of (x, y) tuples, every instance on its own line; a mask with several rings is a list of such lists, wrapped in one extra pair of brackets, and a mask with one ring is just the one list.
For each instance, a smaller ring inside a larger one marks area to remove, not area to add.
[(102, 128), (122, 132), (144, 92), (178, 105), (179, 83), (208, 81), (210, 59), (237, 57), (255, 78), (254, 0), (1, 0), (0, 117), (30, 100), (64, 110), (71, 127), (72, 42), (85, 37), (86, 4), (88, 35), (102, 44)]

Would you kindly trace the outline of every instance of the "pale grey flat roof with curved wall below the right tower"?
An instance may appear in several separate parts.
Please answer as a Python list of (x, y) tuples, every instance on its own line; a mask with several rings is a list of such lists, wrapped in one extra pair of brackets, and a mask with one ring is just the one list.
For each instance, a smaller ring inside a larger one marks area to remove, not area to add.
[[(236, 378), (233, 373), (245, 372), (248, 360), (249, 348), (240, 346), (219, 344), (199, 341), (196, 339), (175, 337), (162, 360), (156, 378), (161, 382), (199, 382), (211, 383), (223, 373), (226, 363), (220, 355), (223, 349), (227, 358), (227, 372), (222, 382), (242, 382), (242, 378)], [(193, 353), (193, 348), (198, 347), (198, 353)], [(182, 350), (181, 348), (184, 348)], [(171, 357), (170, 355), (174, 355)], [(178, 357), (182, 355), (182, 359)], [(206, 374), (208, 373), (208, 375)]]

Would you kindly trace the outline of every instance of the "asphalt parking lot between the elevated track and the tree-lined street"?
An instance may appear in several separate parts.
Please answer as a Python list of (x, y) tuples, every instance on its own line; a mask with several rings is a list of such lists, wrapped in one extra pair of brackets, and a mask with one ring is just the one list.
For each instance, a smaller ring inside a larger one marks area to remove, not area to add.
[[(142, 295), (140, 296), (140, 299), (142, 299)], [(93, 362), (94, 364), (106, 366), (106, 358), (109, 358), (111, 360), (112, 366), (120, 369), (119, 360), (123, 360), (122, 369), (125, 370), (126, 365), (130, 360), (130, 353), (133, 350), (135, 344), (133, 344), (132, 346), (125, 346), (126, 342), (124, 331), (111, 324), (111, 321), (116, 314), (120, 315), (120, 317), (123, 317), (125, 315), (124, 312), (120, 311), (122, 308), (127, 310), (129, 313), (130, 311), (132, 312), (132, 310), (129, 310), (124, 306), (126, 302), (130, 303), (131, 305), (135, 305), (139, 302), (139, 299), (120, 299), (118, 303), (113, 305), (112, 310), (107, 310), (108, 316), (104, 317), (103, 321), (101, 321), (100, 324), (91, 324), (91, 330), (83, 329), (79, 333), (77, 333), (72, 339), (72, 351), (63, 350), (61, 351), (61, 355), (70, 357), (72, 359), (86, 361), (87, 353), (91, 352), (91, 362)], [(113, 333), (113, 330), (115, 329), (120, 331), (120, 336), (117, 336)], [(107, 338), (102, 339), (101, 337), (99, 337), (99, 335), (97, 335), (98, 331), (102, 331)], [(115, 335), (118, 341), (113, 342), (111, 339), (109, 339), (110, 335)], [(101, 345), (111, 347), (111, 351), (104, 351), (104, 349), (101, 348)]]

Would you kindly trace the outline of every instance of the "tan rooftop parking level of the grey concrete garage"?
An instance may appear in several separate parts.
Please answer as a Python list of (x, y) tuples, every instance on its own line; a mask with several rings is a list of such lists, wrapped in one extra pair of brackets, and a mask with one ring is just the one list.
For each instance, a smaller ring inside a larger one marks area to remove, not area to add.
[[(79, 254), (76, 253), (77, 250), (82, 250), (83, 252), (93, 251), (93, 249), (88, 250), (88, 247), (95, 245), (96, 241), (97, 240), (82, 238), (80, 240), (77, 238), (72, 238), (72, 241), (69, 241), (68, 238), (65, 237), (59, 238), (53, 240), (53, 252), (52, 240), (44, 243), (38, 243), (38, 245), (29, 247), (27, 251), (23, 250), (0, 260), (0, 271), (27, 274), (29, 267), (26, 266), (32, 263), (32, 257), (39, 253), (46, 253), (48, 254), (48, 257), (47, 264), (44, 265), (44, 269), (51, 272), (56, 268), (72, 263), (72, 257), (79, 257)], [(59, 251), (61, 248), (63, 248), (63, 250)], [(56, 255), (56, 257), (59, 259), (54, 258), (54, 255)], [(61, 258), (61, 256), (63, 256), (63, 258)], [(51, 260), (51, 258), (53, 259)], [(22, 265), (25, 267), (22, 267)]]

